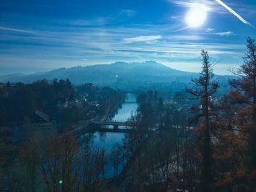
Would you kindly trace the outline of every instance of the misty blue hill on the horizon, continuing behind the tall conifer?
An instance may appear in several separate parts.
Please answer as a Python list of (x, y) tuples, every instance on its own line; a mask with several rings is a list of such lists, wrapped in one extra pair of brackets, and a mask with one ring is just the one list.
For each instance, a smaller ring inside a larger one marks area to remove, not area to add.
[[(34, 82), (35, 80), (69, 79), (76, 85), (92, 82), (113, 88), (136, 90), (141, 88), (184, 88), (197, 73), (183, 72), (154, 61), (143, 63), (116, 62), (114, 64), (76, 66), (36, 74), (9, 74), (0, 77), (0, 82)], [(228, 76), (218, 76), (222, 85)]]

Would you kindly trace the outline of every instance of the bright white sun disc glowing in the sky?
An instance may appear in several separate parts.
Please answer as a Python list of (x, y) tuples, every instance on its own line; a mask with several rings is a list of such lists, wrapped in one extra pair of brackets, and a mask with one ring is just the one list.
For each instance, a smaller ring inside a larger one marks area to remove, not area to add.
[(207, 18), (207, 10), (204, 4), (192, 4), (186, 15), (187, 25), (191, 28), (203, 26)]

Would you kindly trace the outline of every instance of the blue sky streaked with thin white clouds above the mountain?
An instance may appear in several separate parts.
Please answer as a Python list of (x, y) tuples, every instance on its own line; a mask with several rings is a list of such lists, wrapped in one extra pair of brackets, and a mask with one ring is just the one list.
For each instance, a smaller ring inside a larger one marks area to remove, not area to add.
[[(242, 64), (246, 36), (256, 38), (256, 1), (222, 0), (0, 0), (0, 74), (116, 61), (157, 61), (200, 72), (200, 50), (228, 74)], [(203, 26), (185, 21), (204, 4)]]

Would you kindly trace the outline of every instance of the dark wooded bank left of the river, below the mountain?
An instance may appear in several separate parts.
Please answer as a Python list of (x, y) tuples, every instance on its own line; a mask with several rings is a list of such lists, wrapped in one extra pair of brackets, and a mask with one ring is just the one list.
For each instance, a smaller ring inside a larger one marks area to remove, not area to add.
[(20, 126), (25, 119), (40, 122), (37, 110), (47, 114), (49, 120), (69, 121), (69, 125), (90, 118), (89, 112), (104, 115), (121, 99), (124, 95), (120, 91), (92, 84), (75, 87), (69, 80), (1, 83), (0, 125)]

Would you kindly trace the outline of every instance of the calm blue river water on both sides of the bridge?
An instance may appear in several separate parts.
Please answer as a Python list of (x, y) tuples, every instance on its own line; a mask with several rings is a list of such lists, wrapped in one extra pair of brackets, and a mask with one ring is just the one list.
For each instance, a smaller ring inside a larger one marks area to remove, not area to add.
[[(112, 118), (112, 120), (116, 121), (127, 121), (128, 118), (131, 117), (132, 113), (134, 114), (138, 104), (136, 102), (136, 95), (133, 93), (127, 93), (126, 99), (121, 107), (118, 108), (116, 115)], [(113, 133), (113, 132), (95, 132), (93, 134), (93, 145), (94, 147), (105, 148), (107, 150), (107, 154), (110, 155), (111, 150), (113, 150), (113, 145), (116, 143), (122, 143), (122, 139), (124, 139), (124, 133)], [(109, 161), (109, 160), (108, 160)], [(105, 166), (105, 178), (113, 177), (113, 164), (111, 162)], [(120, 173), (122, 170), (122, 165), (119, 165), (118, 172)]]

